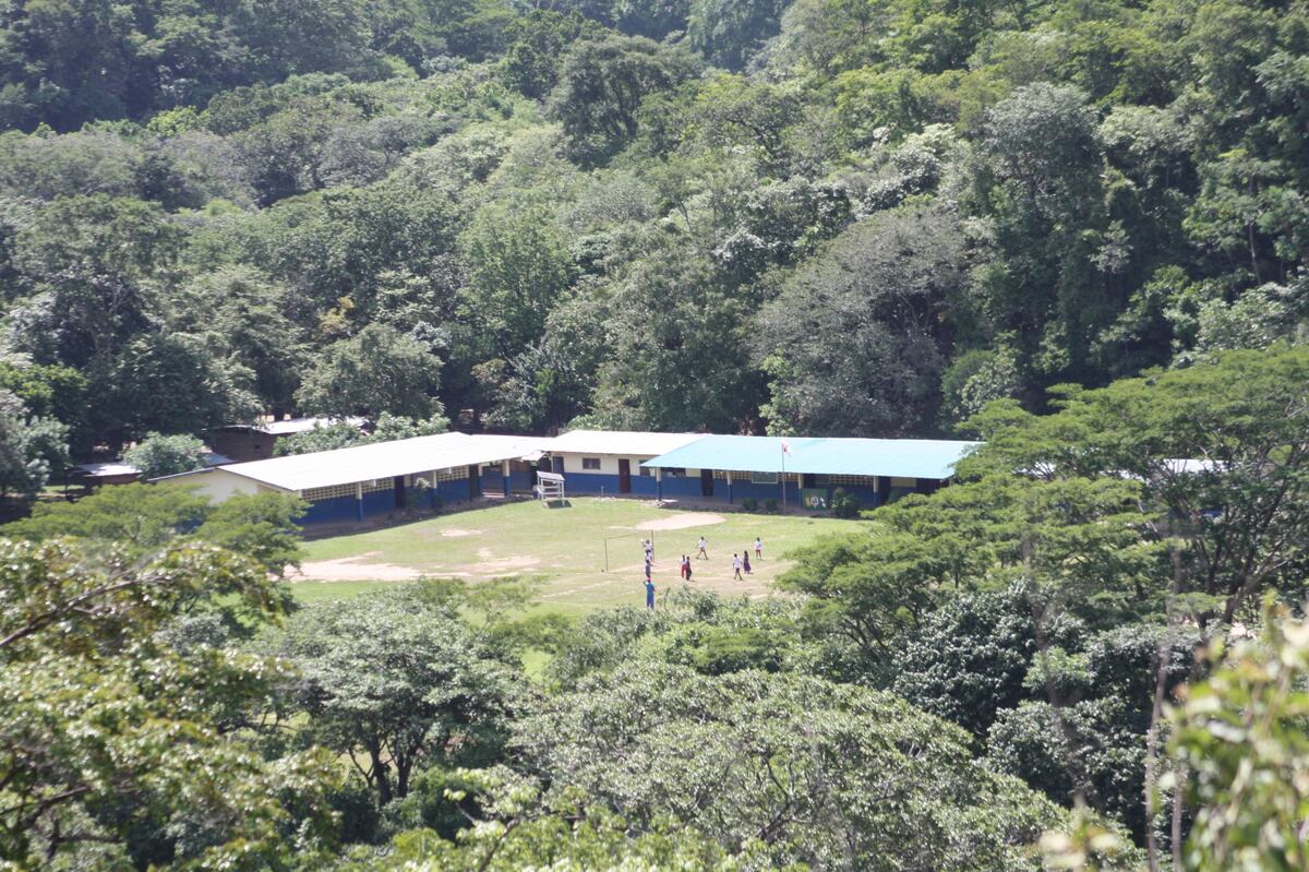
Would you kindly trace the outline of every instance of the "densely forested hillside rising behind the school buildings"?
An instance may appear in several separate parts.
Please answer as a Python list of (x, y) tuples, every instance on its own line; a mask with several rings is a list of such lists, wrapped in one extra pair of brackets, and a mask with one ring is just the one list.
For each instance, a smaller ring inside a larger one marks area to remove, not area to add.
[(3, 25), (0, 380), (75, 453), (441, 406), (929, 435), (1302, 335), (1296, 4), (43, 0)]

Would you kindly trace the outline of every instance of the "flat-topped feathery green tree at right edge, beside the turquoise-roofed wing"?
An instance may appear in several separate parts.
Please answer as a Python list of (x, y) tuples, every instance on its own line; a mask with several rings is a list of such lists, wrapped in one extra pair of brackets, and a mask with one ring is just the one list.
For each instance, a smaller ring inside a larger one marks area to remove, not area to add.
[[(987, 448), (969, 469), (1134, 479), (1166, 509), (1173, 593), (1202, 622), (1250, 614), (1267, 585), (1299, 585), (1309, 539), (1309, 354), (1227, 352), (1213, 361), (1059, 391), (1060, 411), (1012, 405), (975, 419)], [(1191, 461), (1191, 462), (1183, 462)]]

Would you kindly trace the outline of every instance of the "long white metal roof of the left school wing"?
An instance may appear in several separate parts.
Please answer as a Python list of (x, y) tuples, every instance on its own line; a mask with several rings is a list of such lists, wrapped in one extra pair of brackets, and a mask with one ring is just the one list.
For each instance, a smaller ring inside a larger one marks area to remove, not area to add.
[(232, 463), (223, 470), (285, 491), (304, 491), (310, 487), (331, 487), (427, 473), (433, 469), (457, 469), (516, 460), (534, 450), (542, 450), (547, 441), (534, 436), (440, 433), (338, 448), (331, 452)]

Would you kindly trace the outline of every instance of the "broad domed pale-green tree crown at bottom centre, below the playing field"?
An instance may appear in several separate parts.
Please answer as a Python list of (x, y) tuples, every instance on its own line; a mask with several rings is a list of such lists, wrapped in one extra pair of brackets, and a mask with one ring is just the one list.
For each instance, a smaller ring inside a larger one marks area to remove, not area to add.
[(551, 700), (513, 745), (637, 826), (673, 817), (734, 850), (758, 839), (780, 865), (1034, 868), (1025, 846), (1059, 820), (970, 759), (962, 733), (798, 676), (634, 663)]

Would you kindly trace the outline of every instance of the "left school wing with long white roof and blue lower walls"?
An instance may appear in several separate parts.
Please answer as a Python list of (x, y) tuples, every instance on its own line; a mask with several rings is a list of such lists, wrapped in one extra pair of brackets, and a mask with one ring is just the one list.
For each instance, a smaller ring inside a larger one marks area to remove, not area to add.
[(293, 494), (309, 503), (304, 524), (363, 521), (397, 509), (469, 503), (487, 492), (528, 492), (550, 441), (441, 433), (168, 478), (194, 482), (215, 503), (234, 494)]

